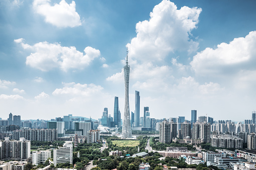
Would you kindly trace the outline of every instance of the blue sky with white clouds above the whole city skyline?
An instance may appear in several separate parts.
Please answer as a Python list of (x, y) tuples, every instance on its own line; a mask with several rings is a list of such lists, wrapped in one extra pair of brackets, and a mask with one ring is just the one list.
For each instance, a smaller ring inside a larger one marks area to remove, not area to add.
[(256, 1), (0, 2), (0, 117), (124, 113), (251, 119), (256, 109)]

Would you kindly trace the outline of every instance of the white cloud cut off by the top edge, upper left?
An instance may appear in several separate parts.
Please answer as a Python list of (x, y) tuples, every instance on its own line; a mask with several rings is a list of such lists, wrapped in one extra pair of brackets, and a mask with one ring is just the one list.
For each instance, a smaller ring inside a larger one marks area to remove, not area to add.
[(56, 27), (76, 27), (81, 25), (80, 16), (75, 11), (75, 2), (67, 4), (62, 0), (59, 4), (50, 5), (49, 0), (34, 0), (33, 8), (36, 13), (45, 18), (46, 23)]

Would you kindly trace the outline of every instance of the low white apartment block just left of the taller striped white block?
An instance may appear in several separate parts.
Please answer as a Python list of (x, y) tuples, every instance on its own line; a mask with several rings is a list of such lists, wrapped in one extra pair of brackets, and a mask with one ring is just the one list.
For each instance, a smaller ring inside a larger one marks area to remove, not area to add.
[(32, 152), (32, 164), (43, 164), (49, 157), (51, 158), (51, 149), (35, 150)]

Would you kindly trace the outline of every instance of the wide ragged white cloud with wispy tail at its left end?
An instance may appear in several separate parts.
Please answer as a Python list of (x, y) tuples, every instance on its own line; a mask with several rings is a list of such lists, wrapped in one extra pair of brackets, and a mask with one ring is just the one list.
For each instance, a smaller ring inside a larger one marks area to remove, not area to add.
[(62, 47), (60, 44), (40, 42), (33, 46), (23, 43), (23, 39), (14, 40), (20, 43), (24, 49), (33, 51), (27, 59), (26, 64), (41, 71), (49, 71), (60, 68), (63, 71), (68, 69), (83, 69), (95, 58), (100, 56), (100, 50), (86, 47), (83, 51), (76, 50), (75, 47)]

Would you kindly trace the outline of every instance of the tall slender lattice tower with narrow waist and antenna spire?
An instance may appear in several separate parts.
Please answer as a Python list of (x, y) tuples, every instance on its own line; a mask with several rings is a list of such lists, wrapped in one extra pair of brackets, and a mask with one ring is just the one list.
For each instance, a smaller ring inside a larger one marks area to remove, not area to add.
[(122, 138), (132, 137), (130, 107), (129, 107), (129, 76), (130, 76), (130, 66), (128, 65), (128, 51), (127, 51), (126, 66), (124, 66), (125, 102), (124, 102)]

